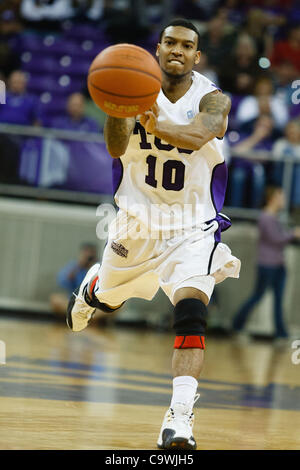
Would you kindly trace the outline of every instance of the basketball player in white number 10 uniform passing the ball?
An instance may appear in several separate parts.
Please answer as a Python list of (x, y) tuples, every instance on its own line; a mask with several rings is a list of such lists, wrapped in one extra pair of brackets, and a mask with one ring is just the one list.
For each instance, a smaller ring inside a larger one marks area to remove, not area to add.
[(221, 243), (227, 169), (222, 137), (230, 99), (193, 71), (199, 34), (186, 20), (161, 33), (162, 90), (137, 118), (107, 116), (115, 200), (102, 263), (70, 300), (68, 325), (84, 329), (96, 308), (113, 311), (161, 287), (174, 305), (173, 395), (157, 445), (195, 449), (193, 405), (203, 367), (207, 305), (216, 283), (238, 277), (240, 261)]

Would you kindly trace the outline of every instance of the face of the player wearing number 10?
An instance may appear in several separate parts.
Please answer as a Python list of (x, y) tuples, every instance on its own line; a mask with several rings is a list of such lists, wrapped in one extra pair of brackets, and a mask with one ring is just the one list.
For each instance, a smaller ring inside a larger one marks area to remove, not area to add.
[(181, 77), (191, 72), (200, 62), (197, 50), (198, 36), (192, 29), (169, 26), (165, 29), (156, 55), (159, 65), (168, 76)]

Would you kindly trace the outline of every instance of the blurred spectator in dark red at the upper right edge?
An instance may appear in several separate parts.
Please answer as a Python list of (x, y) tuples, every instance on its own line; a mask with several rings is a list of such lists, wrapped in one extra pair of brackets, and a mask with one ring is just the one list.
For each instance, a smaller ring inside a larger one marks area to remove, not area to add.
[(298, 74), (300, 72), (300, 26), (293, 26), (288, 31), (287, 38), (277, 41), (274, 45), (271, 64), (277, 66), (281, 63), (282, 58), (289, 60), (296, 68)]

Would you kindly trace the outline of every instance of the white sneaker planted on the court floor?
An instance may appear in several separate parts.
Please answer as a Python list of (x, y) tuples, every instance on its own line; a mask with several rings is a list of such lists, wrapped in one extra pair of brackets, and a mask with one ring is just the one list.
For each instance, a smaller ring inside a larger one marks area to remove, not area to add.
[[(199, 398), (196, 395), (195, 401)], [(175, 403), (165, 414), (157, 441), (159, 449), (195, 450), (196, 441), (193, 436), (194, 413), (184, 403)]]

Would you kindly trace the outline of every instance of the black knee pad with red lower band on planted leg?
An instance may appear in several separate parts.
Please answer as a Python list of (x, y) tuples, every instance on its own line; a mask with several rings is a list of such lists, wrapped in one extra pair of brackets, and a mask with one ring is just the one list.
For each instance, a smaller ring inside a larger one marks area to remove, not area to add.
[(207, 308), (199, 299), (183, 299), (174, 309), (174, 348), (205, 349)]

